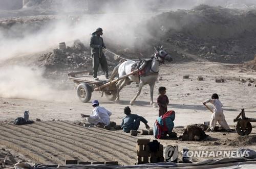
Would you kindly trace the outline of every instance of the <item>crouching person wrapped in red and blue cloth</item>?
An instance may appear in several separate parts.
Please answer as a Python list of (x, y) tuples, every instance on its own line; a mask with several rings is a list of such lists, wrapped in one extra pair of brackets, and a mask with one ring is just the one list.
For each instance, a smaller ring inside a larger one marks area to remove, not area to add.
[[(175, 111), (170, 110), (156, 119), (153, 132), (154, 137), (157, 139), (177, 137), (173, 132), (175, 120)], [(167, 136), (168, 134), (168, 136)]]

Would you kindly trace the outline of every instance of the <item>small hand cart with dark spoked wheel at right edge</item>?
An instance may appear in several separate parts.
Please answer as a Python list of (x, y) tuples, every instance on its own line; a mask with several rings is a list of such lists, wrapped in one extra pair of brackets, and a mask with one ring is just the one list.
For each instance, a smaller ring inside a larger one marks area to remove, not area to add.
[[(241, 116), (241, 118), (240, 118)], [(256, 122), (256, 118), (247, 118), (245, 116), (244, 109), (241, 109), (241, 112), (234, 119), (234, 123), (237, 122), (236, 131), (239, 135), (248, 135), (251, 133), (252, 126), (250, 122)]]

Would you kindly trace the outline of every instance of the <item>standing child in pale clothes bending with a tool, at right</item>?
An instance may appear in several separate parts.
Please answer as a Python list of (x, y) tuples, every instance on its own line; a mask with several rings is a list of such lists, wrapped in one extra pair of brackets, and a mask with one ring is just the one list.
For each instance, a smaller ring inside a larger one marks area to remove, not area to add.
[(206, 103), (214, 105), (214, 113), (212, 113), (210, 119), (210, 130), (214, 131), (215, 125), (218, 122), (225, 130), (231, 131), (223, 114), (223, 105), (221, 101), (219, 101), (219, 95), (217, 93), (212, 94), (211, 99), (206, 100), (203, 104), (205, 105)]

